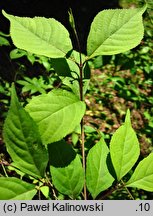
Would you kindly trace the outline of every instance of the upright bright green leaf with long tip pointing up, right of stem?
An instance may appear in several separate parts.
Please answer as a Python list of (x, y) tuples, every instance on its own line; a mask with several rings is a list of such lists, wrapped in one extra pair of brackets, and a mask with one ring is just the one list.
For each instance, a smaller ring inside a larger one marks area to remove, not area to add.
[(111, 160), (118, 180), (130, 171), (139, 154), (139, 142), (131, 126), (130, 111), (128, 110), (124, 125), (116, 130), (110, 141)]

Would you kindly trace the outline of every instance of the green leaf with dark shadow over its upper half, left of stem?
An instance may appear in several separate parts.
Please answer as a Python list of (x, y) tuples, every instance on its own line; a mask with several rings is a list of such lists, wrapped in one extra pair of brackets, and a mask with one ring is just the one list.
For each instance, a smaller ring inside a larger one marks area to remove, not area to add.
[(48, 145), (49, 164), (54, 186), (63, 194), (76, 198), (82, 191), (84, 171), (72, 145), (64, 140)]

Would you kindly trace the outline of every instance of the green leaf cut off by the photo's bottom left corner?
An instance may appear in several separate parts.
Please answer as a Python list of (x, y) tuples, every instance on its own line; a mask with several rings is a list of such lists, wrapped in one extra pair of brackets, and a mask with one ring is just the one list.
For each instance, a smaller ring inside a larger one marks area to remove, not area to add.
[(31, 200), (37, 193), (35, 185), (15, 177), (0, 177), (0, 200)]

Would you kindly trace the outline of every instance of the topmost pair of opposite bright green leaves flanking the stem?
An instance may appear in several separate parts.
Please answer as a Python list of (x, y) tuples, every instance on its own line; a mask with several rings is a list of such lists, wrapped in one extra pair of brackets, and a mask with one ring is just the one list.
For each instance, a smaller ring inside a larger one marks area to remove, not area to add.
[[(86, 59), (118, 54), (137, 46), (143, 37), (142, 14), (145, 10), (146, 5), (138, 9), (99, 12), (91, 24)], [(64, 58), (73, 50), (67, 29), (55, 19), (22, 18), (5, 11), (3, 15), (11, 22), (11, 37), (18, 48), (50, 58)]]

